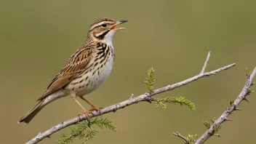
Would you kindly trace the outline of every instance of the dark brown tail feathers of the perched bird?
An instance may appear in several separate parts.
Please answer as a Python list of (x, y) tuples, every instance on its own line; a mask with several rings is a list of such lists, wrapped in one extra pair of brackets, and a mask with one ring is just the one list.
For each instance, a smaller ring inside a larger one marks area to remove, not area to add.
[(17, 121), (17, 124), (20, 124), (20, 122), (24, 122), (25, 124), (28, 124), (31, 119), (33, 119), (34, 116), (36, 116), (39, 111), (41, 111), (44, 106), (41, 104), (44, 103), (44, 99), (40, 100), (32, 109), (31, 111), (28, 111), (28, 113), (25, 114), (19, 121)]

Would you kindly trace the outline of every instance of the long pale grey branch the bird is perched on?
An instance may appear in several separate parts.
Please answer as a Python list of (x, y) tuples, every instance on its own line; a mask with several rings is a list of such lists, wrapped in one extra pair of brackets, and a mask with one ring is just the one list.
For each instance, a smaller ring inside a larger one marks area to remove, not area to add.
[[(208, 54), (206, 62), (204, 63), (205, 67), (207, 65), (208, 60), (209, 60), (209, 54)], [(161, 87), (160, 89), (155, 89), (155, 90), (152, 90), (150, 92), (145, 92), (143, 95), (139, 95), (137, 97), (129, 97), (128, 100), (125, 100), (121, 103), (118, 103), (116, 105), (111, 105), (107, 108), (103, 108), (101, 110), (101, 112), (103, 114), (110, 113), (110, 112), (116, 112), (120, 108), (125, 108), (129, 105), (133, 105), (135, 103), (139, 103), (139, 102), (142, 102), (142, 101), (148, 101), (149, 103), (151, 103), (151, 101), (153, 100), (153, 98), (152, 98), (153, 95), (157, 95), (157, 94), (160, 94), (162, 92), (167, 92), (167, 91), (170, 91), (170, 90), (175, 89), (177, 87), (184, 86), (185, 84), (191, 83), (192, 81), (196, 81), (197, 79), (201, 79), (204, 76), (216, 75), (217, 73), (220, 73), (220, 71), (228, 70), (229, 68), (232, 68), (235, 65), (236, 65), (236, 63), (233, 63), (231, 65), (226, 65), (223, 68), (219, 68), (215, 71), (210, 71), (210, 72), (207, 72), (207, 73), (204, 73), (204, 72), (199, 73), (199, 75), (193, 76), (189, 79), (185, 79), (184, 81), (180, 81), (176, 84), (168, 85), (166, 87)], [(203, 70), (204, 70), (204, 68), (203, 68)], [(92, 111), (92, 113), (89, 114), (90, 118), (95, 117), (95, 116), (100, 116), (100, 112)], [(69, 119), (68, 121), (63, 121), (60, 124), (57, 124), (56, 126), (52, 127), (51, 129), (48, 129), (46, 132), (39, 133), (32, 140), (28, 141), (27, 144), (39, 143), (39, 141), (43, 140), (45, 137), (50, 137), (53, 133), (59, 131), (60, 129), (64, 129), (65, 127), (71, 126), (73, 124), (77, 124), (80, 121), (84, 121), (86, 119), (87, 119), (87, 116), (85, 116), (83, 114), (81, 116), (76, 116), (73, 119)]]

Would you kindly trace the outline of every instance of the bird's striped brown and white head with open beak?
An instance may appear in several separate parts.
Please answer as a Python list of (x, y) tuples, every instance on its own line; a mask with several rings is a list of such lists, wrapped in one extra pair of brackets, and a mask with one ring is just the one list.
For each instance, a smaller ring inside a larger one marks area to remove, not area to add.
[(126, 22), (127, 20), (116, 21), (110, 18), (100, 18), (90, 25), (88, 36), (97, 41), (112, 41), (113, 35), (116, 33), (116, 31), (125, 29), (116, 28), (116, 26)]

